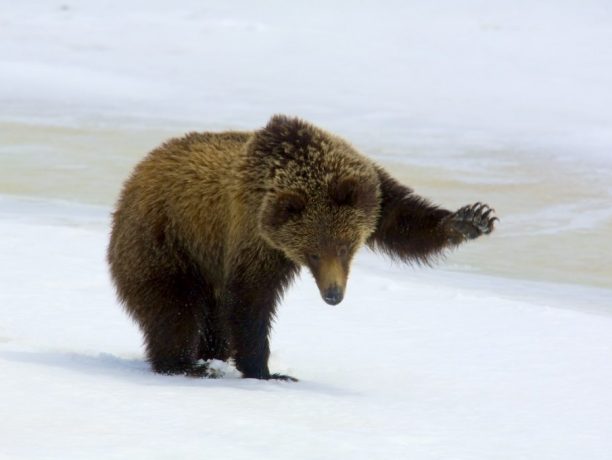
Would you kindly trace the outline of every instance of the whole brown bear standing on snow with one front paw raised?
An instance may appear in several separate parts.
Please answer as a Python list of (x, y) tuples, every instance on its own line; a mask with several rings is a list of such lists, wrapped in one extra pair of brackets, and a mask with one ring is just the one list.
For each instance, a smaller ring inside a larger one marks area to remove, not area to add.
[(244, 377), (294, 380), (269, 372), (268, 336), (301, 267), (336, 305), (364, 244), (427, 263), (495, 220), (480, 203), (434, 206), (343, 139), (277, 115), (151, 152), (124, 185), (108, 261), (156, 372), (213, 376), (207, 360), (233, 358)]

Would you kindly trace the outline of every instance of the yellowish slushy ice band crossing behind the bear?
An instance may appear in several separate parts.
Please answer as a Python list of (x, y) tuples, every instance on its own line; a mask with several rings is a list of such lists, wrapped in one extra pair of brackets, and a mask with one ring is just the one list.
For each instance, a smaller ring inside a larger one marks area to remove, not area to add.
[[(0, 124), (0, 194), (112, 206), (131, 168), (185, 129)], [(446, 269), (612, 287), (609, 171), (525, 152), (356, 145), (419, 194), (448, 208), (486, 201), (500, 223)]]

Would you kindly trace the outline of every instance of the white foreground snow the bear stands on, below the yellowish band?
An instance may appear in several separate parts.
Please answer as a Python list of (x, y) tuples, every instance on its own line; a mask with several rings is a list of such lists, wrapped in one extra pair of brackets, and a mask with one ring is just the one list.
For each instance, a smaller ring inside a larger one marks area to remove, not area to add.
[(279, 308), (271, 368), (299, 383), (158, 376), (114, 298), (109, 213), (0, 199), (2, 459), (612, 452), (609, 290), (413, 270), (364, 252), (340, 306), (305, 275)]

